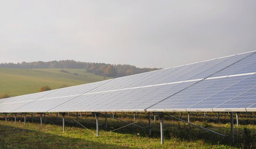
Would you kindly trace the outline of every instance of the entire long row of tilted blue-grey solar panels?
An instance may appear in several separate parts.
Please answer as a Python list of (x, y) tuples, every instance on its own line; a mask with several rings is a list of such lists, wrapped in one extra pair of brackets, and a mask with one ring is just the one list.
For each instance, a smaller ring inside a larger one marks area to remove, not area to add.
[(0, 100), (0, 112), (256, 111), (248, 52)]

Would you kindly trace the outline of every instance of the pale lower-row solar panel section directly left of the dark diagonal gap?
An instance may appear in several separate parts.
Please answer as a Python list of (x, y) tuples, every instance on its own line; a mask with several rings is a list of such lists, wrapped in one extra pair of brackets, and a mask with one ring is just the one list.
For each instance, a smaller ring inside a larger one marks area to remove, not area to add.
[(178, 92), (194, 82), (155, 86), (148, 88), (118, 90), (79, 96), (49, 112), (55, 111), (144, 111), (150, 105)]

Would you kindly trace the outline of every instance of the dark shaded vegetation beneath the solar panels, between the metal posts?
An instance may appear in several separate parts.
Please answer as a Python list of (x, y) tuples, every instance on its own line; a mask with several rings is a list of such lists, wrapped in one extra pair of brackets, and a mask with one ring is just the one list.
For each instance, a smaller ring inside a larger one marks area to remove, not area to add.
[[(213, 116), (213, 115), (212, 115)], [(79, 122), (82, 123), (86, 128), (94, 129), (95, 126), (95, 117), (93, 115), (87, 115), (87, 117), (83, 117), (85, 120), (79, 120)], [(143, 119), (145, 118), (145, 119)], [(139, 126), (148, 128), (148, 121), (146, 119), (147, 117), (142, 117), (142, 119), (136, 119), (135, 121), (138, 121), (136, 123)], [(192, 120), (196, 120), (196, 117), (191, 117)], [(193, 119), (194, 118), (194, 119)], [(39, 117), (37, 117), (39, 119)], [(47, 120), (54, 122), (56, 125), (62, 126), (62, 120), (59, 118), (57, 121), (57, 118), (54, 117), (46, 117)], [(70, 127), (76, 127), (75, 123), (72, 119), (76, 119), (75, 117), (66, 117), (66, 126)], [(131, 118), (121, 118), (124, 121), (128, 122), (134, 122)], [(186, 117), (183, 117), (183, 119), (186, 119)], [(31, 121), (30, 118), (27, 118), (28, 121)], [(164, 124), (164, 137), (165, 139), (170, 138), (178, 138), (183, 141), (196, 141), (196, 140), (203, 140), (205, 143), (212, 144), (212, 145), (227, 145), (230, 146), (230, 125), (228, 127), (222, 127), (220, 126), (210, 126), (209, 129), (213, 131), (217, 131), (218, 133), (226, 135), (226, 137), (221, 137), (215, 134), (212, 134), (210, 132), (207, 132), (205, 130), (192, 127), (190, 125), (187, 125), (182, 122), (173, 122), (170, 117), (165, 117), (165, 124)], [(223, 119), (223, 121), (229, 122), (228, 118)], [(34, 122), (39, 122), (38, 120), (34, 120)], [(47, 122), (47, 121), (46, 121)], [(100, 118), (100, 129), (105, 130), (105, 118)], [(203, 121), (198, 121), (200, 125), (202, 125)], [(194, 123), (194, 121), (193, 121)], [(127, 125), (124, 122), (117, 121), (111, 118), (108, 118), (108, 129), (114, 130), (120, 127), (123, 127)], [(81, 127), (81, 126), (78, 126)], [(152, 120), (152, 134), (150, 137), (152, 138), (159, 138), (160, 137), (160, 128), (159, 128), (159, 121), (154, 122)], [(235, 128), (235, 146), (238, 148), (254, 148), (256, 147), (256, 140), (254, 139), (256, 130), (252, 127), (250, 129), (244, 129), (244, 128)], [(148, 137), (148, 130), (141, 129), (135, 126), (129, 126), (122, 129), (119, 129), (115, 131), (115, 133), (119, 134), (132, 134), (132, 135), (140, 135), (142, 137)], [(160, 141), (160, 140), (159, 140)], [(115, 148), (115, 147), (114, 147)]]

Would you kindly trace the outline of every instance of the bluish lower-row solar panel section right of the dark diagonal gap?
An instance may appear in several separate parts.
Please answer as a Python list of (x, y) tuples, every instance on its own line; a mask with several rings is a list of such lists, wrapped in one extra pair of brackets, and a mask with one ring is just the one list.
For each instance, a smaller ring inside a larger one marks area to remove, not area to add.
[[(172, 109), (240, 109), (256, 104), (256, 75), (209, 79), (198, 82), (177, 95), (149, 108)], [(254, 96), (255, 95), (255, 96)]]

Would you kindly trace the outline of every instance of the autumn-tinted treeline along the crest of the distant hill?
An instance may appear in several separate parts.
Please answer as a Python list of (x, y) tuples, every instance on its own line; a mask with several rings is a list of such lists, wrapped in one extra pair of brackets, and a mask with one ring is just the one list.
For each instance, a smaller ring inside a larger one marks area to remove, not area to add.
[(138, 74), (157, 70), (157, 68), (138, 68), (127, 64), (105, 64), (105, 63), (89, 63), (77, 62), (74, 60), (50, 61), (50, 62), (22, 62), (22, 63), (1, 63), (0, 68), (12, 69), (84, 69), (87, 72), (98, 74), (106, 77), (123, 77), (131, 74)]

